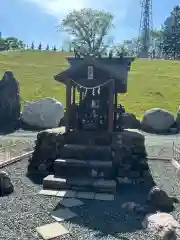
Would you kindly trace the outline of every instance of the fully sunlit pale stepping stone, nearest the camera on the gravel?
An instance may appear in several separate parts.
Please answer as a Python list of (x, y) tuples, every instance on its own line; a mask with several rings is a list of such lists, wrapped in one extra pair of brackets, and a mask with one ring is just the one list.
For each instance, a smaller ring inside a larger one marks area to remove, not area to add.
[(44, 240), (50, 240), (69, 233), (65, 227), (57, 222), (37, 227), (36, 231), (42, 236)]

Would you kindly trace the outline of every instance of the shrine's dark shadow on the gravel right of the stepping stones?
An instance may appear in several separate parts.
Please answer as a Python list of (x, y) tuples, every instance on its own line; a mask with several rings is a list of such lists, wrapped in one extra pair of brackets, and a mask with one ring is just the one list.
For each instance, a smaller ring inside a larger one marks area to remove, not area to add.
[[(124, 185), (119, 189), (119, 193), (114, 201), (85, 201), (84, 205), (71, 210), (78, 217), (69, 220), (71, 224), (82, 226), (84, 229), (96, 232), (96, 238), (113, 236), (118, 239), (128, 240), (124, 235), (131, 235), (142, 230), (141, 221), (143, 215), (127, 212), (122, 208), (126, 202), (135, 202), (145, 205), (149, 190), (154, 186), (154, 182), (144, 185)], [(60, 208), (60, 205), (56, 206)]]

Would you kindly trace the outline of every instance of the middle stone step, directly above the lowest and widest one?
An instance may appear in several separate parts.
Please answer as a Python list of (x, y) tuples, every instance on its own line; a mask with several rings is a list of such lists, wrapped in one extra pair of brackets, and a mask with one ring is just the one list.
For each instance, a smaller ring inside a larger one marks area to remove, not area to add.
[[(112, 162), (99, 160), (56, 159), (54, 162), (55, 176), (92, 176), (92, 170), (111, 175)], [(94, 175), (94, 177), (98, 177)]]

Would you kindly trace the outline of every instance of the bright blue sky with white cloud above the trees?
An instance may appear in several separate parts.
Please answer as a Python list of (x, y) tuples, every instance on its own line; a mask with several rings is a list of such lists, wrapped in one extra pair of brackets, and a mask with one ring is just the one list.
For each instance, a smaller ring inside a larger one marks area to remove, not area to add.
[[(153, 25), (159, 28), (179, 0), (152, 0)], [(138, 35), (140, 0), (2, 0), (0, 31), (3, 36), (17, 36), (30, 44), (64, 44), (68, 37), (56, 26), (68, 11), (92, 7), (114, 13), (113, 37), (117, 42)]]

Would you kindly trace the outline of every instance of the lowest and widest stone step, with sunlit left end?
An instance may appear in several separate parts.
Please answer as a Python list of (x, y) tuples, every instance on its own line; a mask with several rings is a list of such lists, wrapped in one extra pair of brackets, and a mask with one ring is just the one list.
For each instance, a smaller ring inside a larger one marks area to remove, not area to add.
[(49, 175), (43, 179), (43, 189), (115, 193), (116, 181), (77, 177), (59, 178), (54, 175)]

